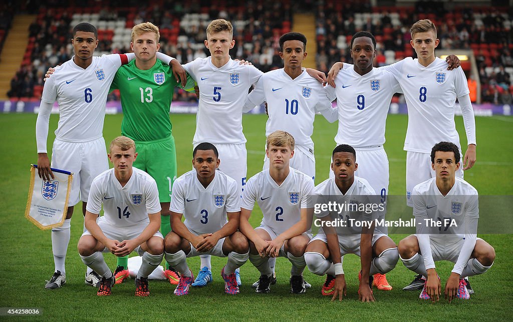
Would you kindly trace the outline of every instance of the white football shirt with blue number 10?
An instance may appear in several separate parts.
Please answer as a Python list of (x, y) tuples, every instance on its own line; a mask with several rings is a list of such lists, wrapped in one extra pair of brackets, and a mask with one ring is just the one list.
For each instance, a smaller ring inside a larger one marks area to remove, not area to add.
[(313, 150), (313, 120), (320, 112), (330, 122), (337, 120), (337, 110), (331, 107), (323, 85), (308, 75), (306, 70), (295, 79), (278, 69), (265, 73), (249, 93), (245, 112), (267, 102), (269, 119), (265, 135), (282, 130), (290, 133), (295, 144), (305, 145)]

